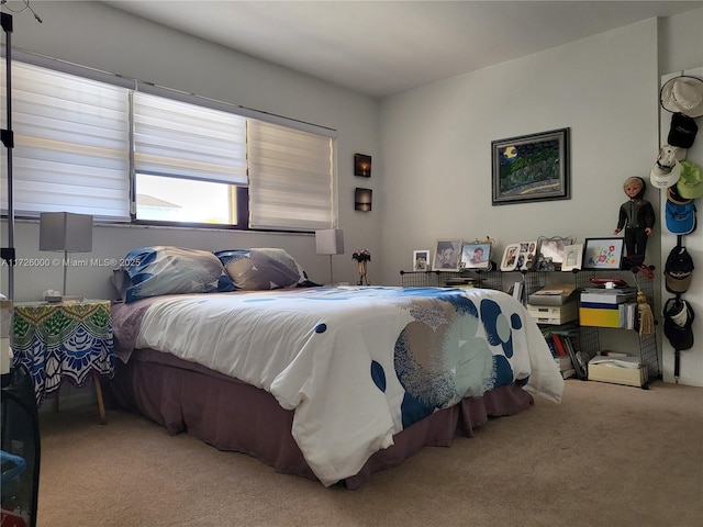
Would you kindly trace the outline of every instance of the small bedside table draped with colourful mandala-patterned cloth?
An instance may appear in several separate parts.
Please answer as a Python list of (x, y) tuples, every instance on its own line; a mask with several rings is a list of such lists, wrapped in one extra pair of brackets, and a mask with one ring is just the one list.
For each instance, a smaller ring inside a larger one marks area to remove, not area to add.
[(64, 380), (80, 388), (91, 377), (104, 424), (100, 378), (114, 375), (110, 301), (20, 302), (13, 322), (13, 361), (32, 373), (37, 407), (58, 396)]

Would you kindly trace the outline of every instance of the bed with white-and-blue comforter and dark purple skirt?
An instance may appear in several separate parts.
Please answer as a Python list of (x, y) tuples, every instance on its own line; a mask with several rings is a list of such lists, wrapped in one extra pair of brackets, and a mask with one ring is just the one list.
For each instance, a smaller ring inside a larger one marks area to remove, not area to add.
[[(221, 277), (208, 292), (137, 287), (113, 305), (113, 400), (170, 434), (356, 489), (533, 395), (560, 401), (539, 328), (505, 293), (312, 287), (298, 265), (294, 284), (245, 289), (237, 266), (263, 266), (226, 253), (233, 288)], [(144, 282), (136, 271), (127, 281)]]

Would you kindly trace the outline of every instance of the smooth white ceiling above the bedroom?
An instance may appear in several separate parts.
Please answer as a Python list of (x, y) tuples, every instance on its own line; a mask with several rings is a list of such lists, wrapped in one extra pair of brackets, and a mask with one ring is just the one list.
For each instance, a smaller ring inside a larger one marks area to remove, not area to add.
[(703, 1), (104, 1), (384, 97)]

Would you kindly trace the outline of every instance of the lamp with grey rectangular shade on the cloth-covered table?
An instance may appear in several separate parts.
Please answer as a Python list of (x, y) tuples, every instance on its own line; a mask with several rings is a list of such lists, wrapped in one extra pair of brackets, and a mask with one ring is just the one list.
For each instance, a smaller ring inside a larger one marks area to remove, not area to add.
[(64, 251), (64, 289), (66, 299), (66, 271), (68, 253), (92, 250), (92, 216), (70, 212), (43, 212), (40, 216), (40, 250)]

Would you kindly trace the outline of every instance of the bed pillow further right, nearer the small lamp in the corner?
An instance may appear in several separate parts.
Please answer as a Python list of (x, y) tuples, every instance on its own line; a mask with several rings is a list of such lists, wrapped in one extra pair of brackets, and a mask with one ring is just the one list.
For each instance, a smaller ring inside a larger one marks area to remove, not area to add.
[(231, 249), (215, 253), (237, 289), (261, 291), (281, 288), (311, 288), (300, 264), (286, 249)]

